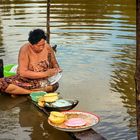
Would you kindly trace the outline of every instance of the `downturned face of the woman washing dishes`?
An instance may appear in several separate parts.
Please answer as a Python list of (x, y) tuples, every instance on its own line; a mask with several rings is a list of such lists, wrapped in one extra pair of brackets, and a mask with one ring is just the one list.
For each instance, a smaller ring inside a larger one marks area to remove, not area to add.
[(45, 47), (45, 39), (41, 39), (37, 44), (32, 45), (32, 49), (36, 53), (40, 53)]

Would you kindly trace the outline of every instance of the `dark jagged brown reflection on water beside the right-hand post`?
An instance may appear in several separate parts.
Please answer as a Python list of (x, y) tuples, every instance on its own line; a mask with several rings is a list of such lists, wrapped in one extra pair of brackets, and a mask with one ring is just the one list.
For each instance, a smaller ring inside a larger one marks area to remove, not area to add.
[[(113, 58), (117, 59), (112, 65), (111, 89), (119, 93), (127, 113), (130, 115), (130, 126), (135, 126), (135, 49), (132, 45), (122, 46), (122, 50), (117, 50)], [(127, 55), (126, 55), (127, 54)]]

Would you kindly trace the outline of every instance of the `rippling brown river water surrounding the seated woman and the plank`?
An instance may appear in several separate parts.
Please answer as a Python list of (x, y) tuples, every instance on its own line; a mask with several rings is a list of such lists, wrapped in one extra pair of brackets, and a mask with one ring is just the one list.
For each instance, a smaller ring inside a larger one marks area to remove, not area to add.
[[(133, 0), (52, 0), (51, 45), (63, 69), (58, 91), (78, 99), (76, 110), (97, 114), (93, 128), (109, 140), (136, 140), (136, 2)], [(45, 0), (0, 1), (0, 57), (17, 63), (28, 32), (46, 31)], [(29, 101), (11, 107), (0, 96), (0, 140), (69, 140), (50, 127)], [(9, 102), (8, 102), (9, 101)], [(8, 109), (7, 109), (8, 108)]]

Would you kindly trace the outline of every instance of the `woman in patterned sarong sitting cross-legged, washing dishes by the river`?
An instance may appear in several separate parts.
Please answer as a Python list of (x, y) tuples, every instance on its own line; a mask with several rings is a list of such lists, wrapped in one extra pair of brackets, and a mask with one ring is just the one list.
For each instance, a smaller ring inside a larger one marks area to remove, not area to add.
[(24, 44), (18, 55), (17, 74), (0, 79), (0, 91), (9, 94), (30, 94), (33, 91), (53, 92), (58, 83), (50, 85), (48, 78), (58, 74), (61, 69), (45, 32), (35, 29), (29, 33), (28, 43)]

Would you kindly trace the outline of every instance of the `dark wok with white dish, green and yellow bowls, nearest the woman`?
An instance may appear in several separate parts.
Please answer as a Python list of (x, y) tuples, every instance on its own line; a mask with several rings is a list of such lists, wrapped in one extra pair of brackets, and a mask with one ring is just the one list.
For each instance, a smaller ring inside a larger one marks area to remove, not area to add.
[(46, 93), (44, 91), (33, 92), (30, 94), (31, 99), (40, 107), (44, 107), (47, 111), (67, 111), (73, 109), (78, 100), (61, 99), (58, 93)]

